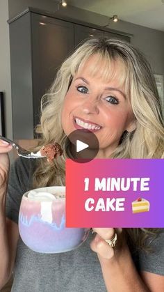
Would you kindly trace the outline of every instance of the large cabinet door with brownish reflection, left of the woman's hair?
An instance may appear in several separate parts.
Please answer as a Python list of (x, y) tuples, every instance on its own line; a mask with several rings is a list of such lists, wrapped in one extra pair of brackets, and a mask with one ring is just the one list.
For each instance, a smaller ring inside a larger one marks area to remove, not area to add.
[(31, 13), (34, 126), (39, 123), (40, 99), (56, 71), (74, 48), (74, 24)]

